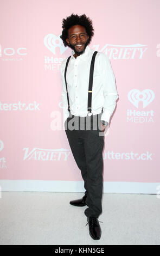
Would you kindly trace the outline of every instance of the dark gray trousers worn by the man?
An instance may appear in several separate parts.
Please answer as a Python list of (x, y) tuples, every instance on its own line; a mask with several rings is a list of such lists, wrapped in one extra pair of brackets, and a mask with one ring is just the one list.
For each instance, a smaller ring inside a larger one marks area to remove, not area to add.
[(102, 212), (104, 132), (101, 131), (101, 112), (91, 117), (70, 114), (65, 131), (75, 162), (81, 170), (88, 208), (87, 217), (99, 217)]

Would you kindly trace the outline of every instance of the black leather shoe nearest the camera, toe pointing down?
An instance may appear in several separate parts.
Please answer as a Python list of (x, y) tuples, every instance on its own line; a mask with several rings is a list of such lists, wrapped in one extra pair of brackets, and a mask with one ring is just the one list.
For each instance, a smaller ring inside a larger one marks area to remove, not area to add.
[(87, 221), (88, 221), (87, 224), (89, 225), (89, 235), (91, 235), (91, 237), (94, 240), (100, 239), (100, 237), (101, 237), (101, 228), (100, 228), (100, 225), (99, 225), (98, 218), (87, 217)]

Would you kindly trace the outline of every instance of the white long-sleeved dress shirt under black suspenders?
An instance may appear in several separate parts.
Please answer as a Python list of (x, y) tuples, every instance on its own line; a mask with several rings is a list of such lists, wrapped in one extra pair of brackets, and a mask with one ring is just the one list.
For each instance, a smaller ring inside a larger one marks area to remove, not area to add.
[[(74, 57), (74, 51), (69, 59), (66, 80), (69, 95), (69, 106), (71, 114), (86, 117), (88, 114), (88, 86), (89, 86), (89, 71), (91, 59), (94, 50), (88, 46), (85, 52), (78, 57)], [(63, 103), (63, 121), (69, 117), (68, 102), (65, 84), (65, 66), (67, 58), (61, 63), (62, 75), (62, 103)], [(95, 56), (93, 87), (92, 87), (92, 113), (93, 115), (103, 114), (101, 120), (109, 123), (110, 117), (116, 107), (118, 93), (116, 89), (115, 77), (111, 67), (110, 60), (103, 52), (98, 52)], [(91, 114), (88, 114), (91, 115)]]

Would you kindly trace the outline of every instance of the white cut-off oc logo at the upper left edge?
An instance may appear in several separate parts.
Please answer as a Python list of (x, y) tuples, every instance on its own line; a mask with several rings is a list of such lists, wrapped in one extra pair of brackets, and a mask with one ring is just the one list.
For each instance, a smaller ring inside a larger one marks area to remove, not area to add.
[[(10, 47), (10, 48), (4, 48), (2, 50), (2, 46), (0, 44), (0, 57), (2, 57), (2, 60), (23, 60), (22, 57), (24, 55), (27, 55), (27, 48), (19, 47), (15, 49)], [(17, 57), (21, 57), (21, 58), (17, 58)]]

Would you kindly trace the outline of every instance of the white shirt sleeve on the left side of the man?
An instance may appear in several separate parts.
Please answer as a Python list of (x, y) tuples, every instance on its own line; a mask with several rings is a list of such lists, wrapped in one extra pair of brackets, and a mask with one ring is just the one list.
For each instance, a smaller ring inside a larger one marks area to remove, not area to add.
[(62, 108), (63, 108), (63, 123), (65, 123), (66, 119), (69, 117), (68, 112), (68, 102), (67, 102), (67, 92), (66, 92), (66, 84), (65, 84), (65, 77), (64, 77), (64, 71), (62, 70), (61, 65), (61, 78), (62, 78)]

